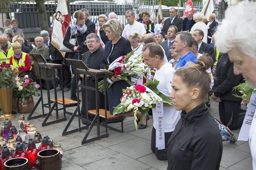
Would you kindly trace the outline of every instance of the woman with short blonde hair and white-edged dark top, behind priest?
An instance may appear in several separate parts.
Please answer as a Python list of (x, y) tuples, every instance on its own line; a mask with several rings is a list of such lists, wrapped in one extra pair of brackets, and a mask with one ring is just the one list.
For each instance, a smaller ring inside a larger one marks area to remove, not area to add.
[(95, 34), (97, 34), (100, 37), (100, 47), (103, 49), (105, 48), (106, 42), (109, 41), (105, 31), (102, 28), (103, 24), (106, 23), (106, 21), (108, 21), (108, 17), (106, 17), (104, 14), (99, 15), (98, 22), (99, 22), (100, 28), (95, 30)]

